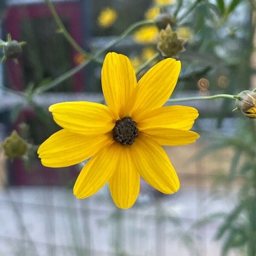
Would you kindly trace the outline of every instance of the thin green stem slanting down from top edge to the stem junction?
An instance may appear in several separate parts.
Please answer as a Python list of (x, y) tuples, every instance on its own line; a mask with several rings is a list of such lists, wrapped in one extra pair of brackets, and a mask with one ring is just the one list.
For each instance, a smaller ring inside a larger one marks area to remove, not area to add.
[(74, 40), (74, 38), (70, 35), (69, 32), (67, 32), (67, 29), (65, 28), (64, 24), (61, 21), (61, 18), (59, 17), (58, 13), (56, 12), (52, 2), (50, 0), (45, 0), (45, 2), (47, 3), (50, 11), (52, 12), (52, 15), (56, 21), (56, 23), (59, 26), (59, 32), (61, 32), (64, 37), (67, 39), (67, 41), (72, 45), (72, 47), (74, 49), (76, 49), (76, 51), (80, 52), (82, 55), (87, 55), (88, 53), (86, 51), (84, 51), (84, 49), (82, 49), (79, 44), (77, 44), (77, 42)]

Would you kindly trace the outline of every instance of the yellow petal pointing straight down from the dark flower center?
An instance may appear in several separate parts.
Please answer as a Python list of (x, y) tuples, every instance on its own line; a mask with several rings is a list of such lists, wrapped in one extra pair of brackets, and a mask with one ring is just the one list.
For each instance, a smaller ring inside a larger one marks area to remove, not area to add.
[(118, 168), (109, 180), (113, 201), (122, 209), (131, 207), (140, 191), (140, 175), (135, 169), (131, 150), (131, 146), (120, 145)]

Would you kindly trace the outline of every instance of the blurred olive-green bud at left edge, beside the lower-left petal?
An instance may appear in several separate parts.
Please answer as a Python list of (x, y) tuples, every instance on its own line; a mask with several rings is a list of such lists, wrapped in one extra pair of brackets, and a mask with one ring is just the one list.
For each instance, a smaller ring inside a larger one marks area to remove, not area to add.
[(22, 157), (28, 150), (28, 143), (23, 140), (17, 131), (13, 131), (2, 144), (6, 157)]

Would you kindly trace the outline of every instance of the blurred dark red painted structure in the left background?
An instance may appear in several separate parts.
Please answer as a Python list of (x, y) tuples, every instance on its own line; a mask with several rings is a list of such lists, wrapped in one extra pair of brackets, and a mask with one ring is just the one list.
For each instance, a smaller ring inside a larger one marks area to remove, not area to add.
[[(54, 3), (58, 15), (68, 23), (69, 32), (79, 45), (82, 45), (82, 6), (80, 1)], [(7, 12), (6, 32), (11, 33), (12, 38), (22, 41), (21, 23), (23, 19), (51, 19), (52, 14), (45, 4), (29, 4), (22, 6), (11, 6)], [(74, 60), (76, 51), (70, 46), (72, 60)], [(16, 65), (12, 60), (7, 63), (7, 80), (13, 90), (23, 90), (26, 86), (23, 76), (22, 58)], [(72, 63), (74, 67), (76, 64)], [(74, 92), (79, 92), (84, 88), (84, 72), (80, 71), (72, 77), (72, 88)], [(18, 122), (22, 120), (34, 119), (35, 113), (31, 110), (24, 110)], [(17, 125), (15, 125), (16, 128)], [(23, 160), (15, 160), (10, 166), (10, 182), (13, 185), (63, 185), (77, 176), (75, 168), (70, 169), (51, 169), (41, 165), (39, 160), (32, 160), (29, 171), (23, 165)]]

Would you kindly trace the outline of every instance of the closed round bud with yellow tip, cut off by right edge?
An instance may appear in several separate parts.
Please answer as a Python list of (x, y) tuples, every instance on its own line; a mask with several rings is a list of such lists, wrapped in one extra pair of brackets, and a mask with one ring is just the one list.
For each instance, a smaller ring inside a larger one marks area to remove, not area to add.
[(250, 90), (244, 90), (238, 95), (236, 106), (249, 118), (256, 118), (256, 93)]

